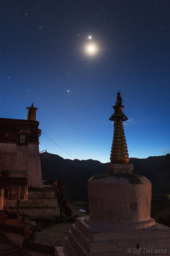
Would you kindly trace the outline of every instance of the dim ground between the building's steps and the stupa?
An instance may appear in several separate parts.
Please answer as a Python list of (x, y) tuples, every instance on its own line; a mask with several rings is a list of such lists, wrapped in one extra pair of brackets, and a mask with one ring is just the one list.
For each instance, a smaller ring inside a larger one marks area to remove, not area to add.
[[(80, 207), (69, 204), (73, 216), (78, 214), (80, 217), (87, 216), (84, 212), (80, 211)], [(34, 242), (42, 244), (52, 244), (54, 246), (64, 246), (65, 237), (69, 230), (71, 230), (72, 223), (48, 223), (47, 227), (41, 228), (41, 231), (35, 232)]]

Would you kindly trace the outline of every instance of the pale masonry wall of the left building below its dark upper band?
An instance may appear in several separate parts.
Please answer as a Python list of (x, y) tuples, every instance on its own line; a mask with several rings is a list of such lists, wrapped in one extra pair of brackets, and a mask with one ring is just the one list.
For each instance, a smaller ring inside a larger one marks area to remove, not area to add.
[(38, 144), (0, 143), (0, 152), (0, 171), (6, 170), (9, 177), (25, 177), (28, 186), (42, 188)]

